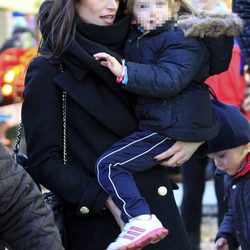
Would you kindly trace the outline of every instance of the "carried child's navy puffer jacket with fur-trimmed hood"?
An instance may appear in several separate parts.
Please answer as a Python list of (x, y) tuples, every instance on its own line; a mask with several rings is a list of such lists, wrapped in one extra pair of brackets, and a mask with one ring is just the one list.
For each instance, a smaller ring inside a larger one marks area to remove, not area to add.
[[(124, 88), (139, 96), (139, 129), (182, 141), (206, 141), (216, 135), (218, 123), (204, 81), (228, 68), (236, 26), (232, 22), (239, 21), (233, 17), (230, 24), (220, 17), (221, 31), (214, 33), (211, 29), (218, 20), (204, 16), (185, 20), (179, 29), (166, 25), (163, 31), (146, 35), (131, 32), (125, 48), (128, 82)], [(209, 27), (204, 28), (204, 22)]]

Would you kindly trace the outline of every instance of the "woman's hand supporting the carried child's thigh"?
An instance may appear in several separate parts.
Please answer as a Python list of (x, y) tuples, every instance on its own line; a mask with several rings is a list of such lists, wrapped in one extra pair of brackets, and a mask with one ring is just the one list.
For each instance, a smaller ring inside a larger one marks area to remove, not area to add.
[(190, 159), (194, 152), (204, 142), (183, 142), (177, 141), (167, 151), (155, 156), (155, 160), (161, 161), (160, 165), (165, 167), (180, 166)]

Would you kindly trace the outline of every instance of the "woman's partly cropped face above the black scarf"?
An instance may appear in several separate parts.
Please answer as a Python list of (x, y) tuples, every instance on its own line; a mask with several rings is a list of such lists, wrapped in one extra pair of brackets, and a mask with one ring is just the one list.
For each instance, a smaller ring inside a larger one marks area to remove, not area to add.
[(119, 0), (79, 0), (78, 15), (87, 23), (107, 26), (114, 23)]

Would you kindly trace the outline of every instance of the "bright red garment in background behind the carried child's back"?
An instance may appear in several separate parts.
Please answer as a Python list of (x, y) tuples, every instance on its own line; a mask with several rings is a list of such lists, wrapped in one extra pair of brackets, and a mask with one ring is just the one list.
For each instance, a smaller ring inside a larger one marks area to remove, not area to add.
[[(246, 90), (245, 79), (240, 75), (240, 57), (240, 48), (235, 44), (228, 70), (221, 74), (213, 75), (205, 81), (212, 87), (220, 101), (239, 108), (245, 97)], [(245, 115), (250, 120), (250, 114)]]

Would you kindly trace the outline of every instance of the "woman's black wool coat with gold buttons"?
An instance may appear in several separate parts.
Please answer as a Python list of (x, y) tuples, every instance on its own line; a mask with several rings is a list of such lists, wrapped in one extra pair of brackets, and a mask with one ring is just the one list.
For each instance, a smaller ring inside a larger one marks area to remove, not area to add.
[[(119, 228), (103, 209), (107, 194), (97, 182), (95, 161), (114, 142), (136, 130), (137, 123), (130, 97), (122, 88), (85, 74), (85, 81), (79, 82), (67, 69), (60, 71), (58, 60), (35, 58), (26, 74), (22, 121), (33, 178), (66, 202), (66, 248), (103, 250)], [(67, 93), (66, 165), (62, 160), (63, 91)], [(170, 231), (157, 249), (190, 249), (164, 169), (155, 167), (136, 180), (152, 212)]]

